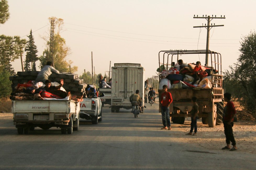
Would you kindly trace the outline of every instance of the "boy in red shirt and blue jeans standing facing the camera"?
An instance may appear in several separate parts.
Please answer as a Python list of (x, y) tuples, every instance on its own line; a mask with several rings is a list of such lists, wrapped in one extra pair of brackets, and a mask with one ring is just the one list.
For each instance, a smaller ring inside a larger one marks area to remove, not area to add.
[[(162, 113), (162, 122), (164, 127), (162, 130), (171, 130), (171, 121), (170, 121), (170, 109), (169, 106), (172, 102), (171, 93), (167, 92), (167, 85), (163, 85), (164, 93), (161, 94), (160, 105), (161, 105), (161, 113)], [(168, 126), (168, 128), (167, 128)]]

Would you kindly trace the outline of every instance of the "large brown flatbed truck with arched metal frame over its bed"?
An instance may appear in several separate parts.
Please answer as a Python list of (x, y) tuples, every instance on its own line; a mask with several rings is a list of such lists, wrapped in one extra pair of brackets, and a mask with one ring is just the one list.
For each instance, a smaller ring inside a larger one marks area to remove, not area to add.
[[(161, 55), (160, 55), (161, 54)], [(209, 127), (215, 127), (222, 123), (223, 116), (223, 88), (222, 88), (222, 72), (221, 72), (221, 54), (210, 50), (174, 50), (174, 51), (160, 51), (159, 52), (159, 70), (160, 65), (166, 63), (166, 70), (168, 70), (169, 58), (171, 63), (174, 61), (173, 57), (182, 55), (182, 58), (189, 57), (193, 54), (208, 54), (211, 61), (211, 69), (217, 70), (216, 74), (212, 74), (212, 88), (186, 88), (186, 89), (168, 89), (171, 93), (173, 102), (170, 104), (170, 118), (173, 123), (183, 124), (185, 117), (191, 117), (192, 97), (197, 98), (198, 117), (202, 117), (203, 124), (208, 124)], [(167, 60), (166, 58), (167, 57)], [(161, 60), (163, 59), (163, 60)], [(161, 72), (159, 78), (161, 77)], [(158, 90), (159, 99), (163, 93), (162, 89)], [(159, 105), (159, 112), (161, 107)]]

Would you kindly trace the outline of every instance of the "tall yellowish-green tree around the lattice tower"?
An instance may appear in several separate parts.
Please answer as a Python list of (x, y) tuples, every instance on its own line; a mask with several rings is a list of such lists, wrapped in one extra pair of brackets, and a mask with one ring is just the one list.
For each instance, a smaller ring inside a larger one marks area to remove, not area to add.
[[(63, 19), (57, 19), (56, 17), (50, 17), (49, 22), (54, 20), (54, 35), (53, 35), (53, 60), (54, 60), (54, 67), (55, 69), (59, 70), (60, 72), (76, 72), (77, 66), (71, 67), (69, 66), (73, 63), (71, 60), (66, 61), (66, 58), (70, 55), (70, 48), (66, 46), (66, 41), (64, 38), (60, 36), (60, 32), (62, 31), (63, 26)], [(39, 58), (40, 60), (40, 67), (47, 63), (47, 61), (52, 61), (50, 56), (50, 38), (43, 37), (46, 41), (46, 49), (43, 51), (43, 55)]]

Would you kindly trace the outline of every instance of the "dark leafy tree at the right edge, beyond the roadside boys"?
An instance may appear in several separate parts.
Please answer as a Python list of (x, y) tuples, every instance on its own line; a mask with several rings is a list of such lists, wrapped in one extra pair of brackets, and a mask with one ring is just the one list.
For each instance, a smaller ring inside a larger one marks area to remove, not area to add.
[(256, 111), (256, 33), (250, 32), (240, 42), (240, 56), (224, 72), (224, 88), (249, 112)]

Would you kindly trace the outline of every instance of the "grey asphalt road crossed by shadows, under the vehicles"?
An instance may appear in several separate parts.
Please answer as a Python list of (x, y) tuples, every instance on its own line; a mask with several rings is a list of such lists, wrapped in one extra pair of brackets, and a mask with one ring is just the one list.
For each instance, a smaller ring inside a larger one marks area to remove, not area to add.
[[(1, 169), (255, 169), (255, 154), (209, 150), (184, 143), (177, 125), (160, 130), (157, 104), (134, 118), (131, 110), (103, 107), (97, 125), (80, 119), (79, 131), (36, 128), (18, 135), (12, 119), (0, 124)], [(209, 143), (210, 145), (211, 143)]]

